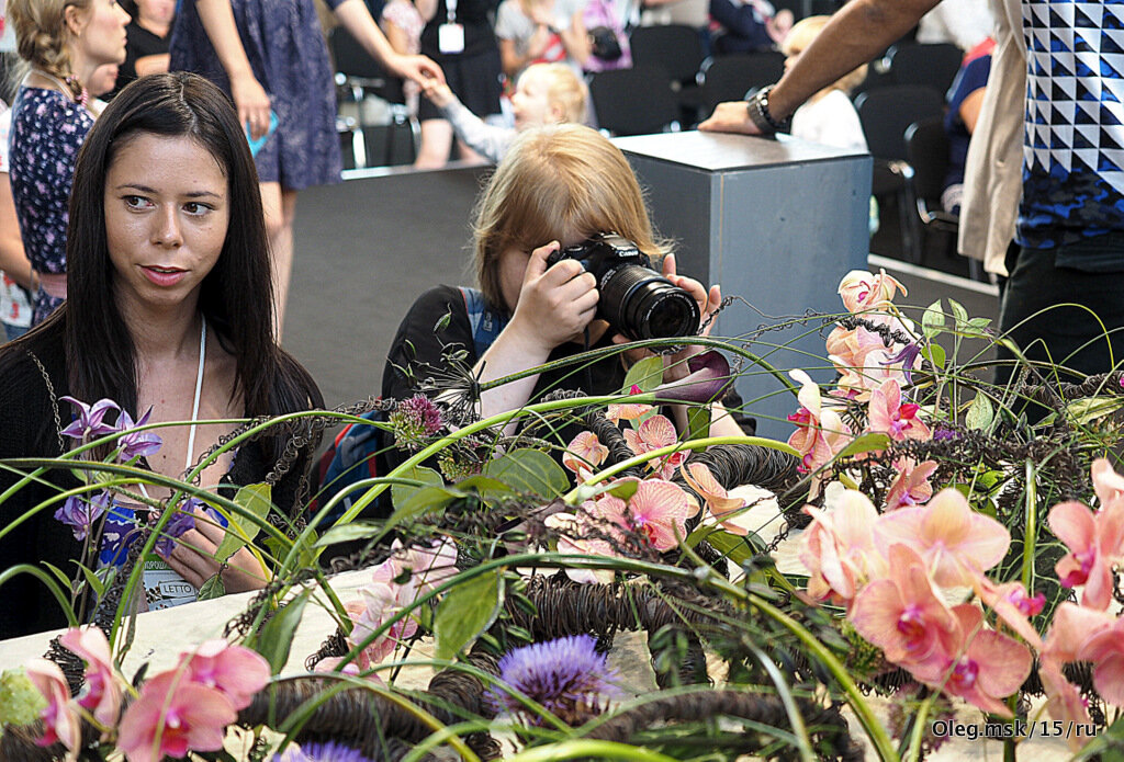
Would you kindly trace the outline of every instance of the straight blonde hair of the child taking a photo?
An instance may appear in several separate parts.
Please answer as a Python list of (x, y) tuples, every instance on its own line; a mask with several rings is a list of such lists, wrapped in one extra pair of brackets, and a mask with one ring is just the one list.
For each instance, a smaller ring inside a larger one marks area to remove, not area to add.
[(632, 167), (608, 138), (581, 125), (528, 129), (477, 205), (477, 283), (493, 306), (507, 309), (499, 283), (504, 251), (529, 254), (552, 240), (598, 232), (619, 233), (655, 260), (668, 250), (652, 230)]

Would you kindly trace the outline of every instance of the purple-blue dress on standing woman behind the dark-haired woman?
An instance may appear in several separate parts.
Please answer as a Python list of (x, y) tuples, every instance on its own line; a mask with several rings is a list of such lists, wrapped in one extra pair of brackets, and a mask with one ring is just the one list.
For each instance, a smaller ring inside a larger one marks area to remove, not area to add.
[[(335, 9), (343, 0), (327, 0)], [(312, 0), (230, 0), (254, 76), (273, 100), (278, 129), (254, 157), (263, 183), (299, 191), (339, 182), (336, 93)], [(196, 72), (230, 92), (194, 0), (172, 29), (172, 71)]]

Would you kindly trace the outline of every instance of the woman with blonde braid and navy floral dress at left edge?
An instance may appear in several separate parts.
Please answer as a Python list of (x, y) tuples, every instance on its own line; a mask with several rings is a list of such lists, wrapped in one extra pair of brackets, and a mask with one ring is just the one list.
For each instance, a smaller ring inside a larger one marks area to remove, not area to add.
[(74, 162), (93, 126), (87, 85), (102, 64), (125, 61), (115, 0), (8, 0), (16, 49), (30, 65), (12, 103), (9, 178), (31, 261), (31, 324), (66, 299), (67, 200)]

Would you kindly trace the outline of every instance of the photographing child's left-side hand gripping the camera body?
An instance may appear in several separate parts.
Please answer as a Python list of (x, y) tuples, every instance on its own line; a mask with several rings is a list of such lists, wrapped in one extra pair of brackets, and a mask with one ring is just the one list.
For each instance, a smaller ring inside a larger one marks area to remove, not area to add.
[(580, 263), (562, 259), (546, 265), (546, 258), (559, 248), (558, 241), (551, 241), (531, 253), (511, 316), (511, 328), (524, 341), (547, 355), (580, 334), (597, 312), (597, 279)]

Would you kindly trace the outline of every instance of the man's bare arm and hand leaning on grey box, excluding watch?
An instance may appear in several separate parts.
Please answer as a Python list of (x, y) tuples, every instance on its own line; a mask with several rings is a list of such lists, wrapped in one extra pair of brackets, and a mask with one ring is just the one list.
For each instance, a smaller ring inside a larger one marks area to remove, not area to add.
[[(790, 117), (806, 100), (856, 66), (881, 53), (906, 34), (940, 0), (851, 0), (832, 17), (796, 65), (769, 93), (769, 111), (777, 120)], [(719, 103), (699, 129), (715, 132), (759, 130), (749, 119), (745, 101)]]

